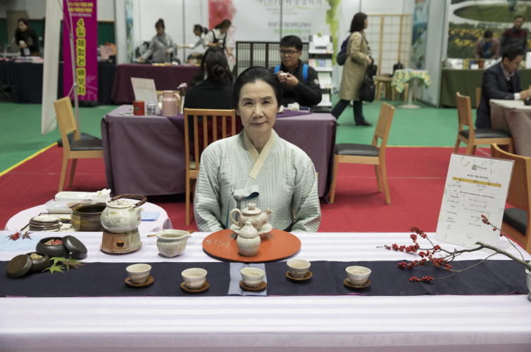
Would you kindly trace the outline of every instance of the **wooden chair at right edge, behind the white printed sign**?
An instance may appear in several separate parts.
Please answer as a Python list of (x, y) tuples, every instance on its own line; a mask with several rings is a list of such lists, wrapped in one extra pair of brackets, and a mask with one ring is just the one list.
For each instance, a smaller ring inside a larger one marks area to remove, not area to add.
[(501, 230), (520, 244), (525, 252), (531, 253), (531, 200), (530, 177), (531, 157), (520, 157), (501, 150), (495, 143), (490, 146), (492, 157), (514, 161), (513, 176), (507, 195), (507, 202), (514, 208), (505, 209)]

